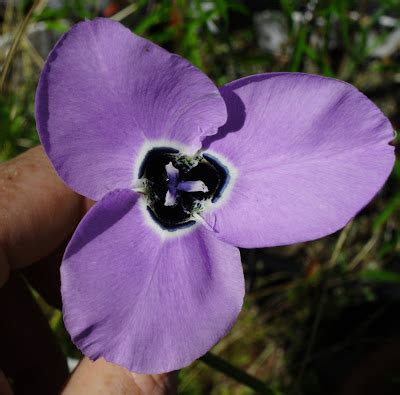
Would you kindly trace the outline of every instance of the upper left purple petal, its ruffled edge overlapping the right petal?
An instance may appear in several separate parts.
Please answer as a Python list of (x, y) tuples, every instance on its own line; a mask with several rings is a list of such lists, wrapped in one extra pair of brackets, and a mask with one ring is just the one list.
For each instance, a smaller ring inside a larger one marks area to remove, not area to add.
[(57, 43), (36, 93), (40, 139), (61, 178), (98, 200), (133, 182), (146, 140), (196, 150), (226, 120), (215, 85), (118, 22), (75, 25)]

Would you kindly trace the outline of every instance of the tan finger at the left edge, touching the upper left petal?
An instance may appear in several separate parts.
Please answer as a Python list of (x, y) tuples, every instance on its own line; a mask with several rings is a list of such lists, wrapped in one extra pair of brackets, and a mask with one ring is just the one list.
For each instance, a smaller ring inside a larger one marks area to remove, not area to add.
[(83, 206), (42, 147), (0, 164), (0, 273), (49, 255), (72, 234)]

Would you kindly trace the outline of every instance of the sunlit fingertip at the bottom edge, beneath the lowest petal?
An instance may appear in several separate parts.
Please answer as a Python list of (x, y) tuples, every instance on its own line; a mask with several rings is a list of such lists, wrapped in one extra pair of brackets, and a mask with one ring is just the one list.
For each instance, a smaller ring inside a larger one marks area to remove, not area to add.
[(142, 375), (98, 359), (95, 362), (82, 359), (63, 395), (141, 395), (175, 394), (175, 373)]

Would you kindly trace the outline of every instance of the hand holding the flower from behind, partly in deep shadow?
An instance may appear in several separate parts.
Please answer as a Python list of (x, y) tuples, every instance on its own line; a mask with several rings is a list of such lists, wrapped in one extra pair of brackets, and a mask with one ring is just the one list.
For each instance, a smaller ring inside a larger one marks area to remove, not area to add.
[(63, 251), (93, 204), (63, 184), (42, 147), (0, 164), (0, 394), (13, 394), (10, 379), (19, 394), (176, 393), (174, 373), (141, 375), (104, 359), (83, 358), (69, 377), (32, 298), (27, 281), (61, 307)]

